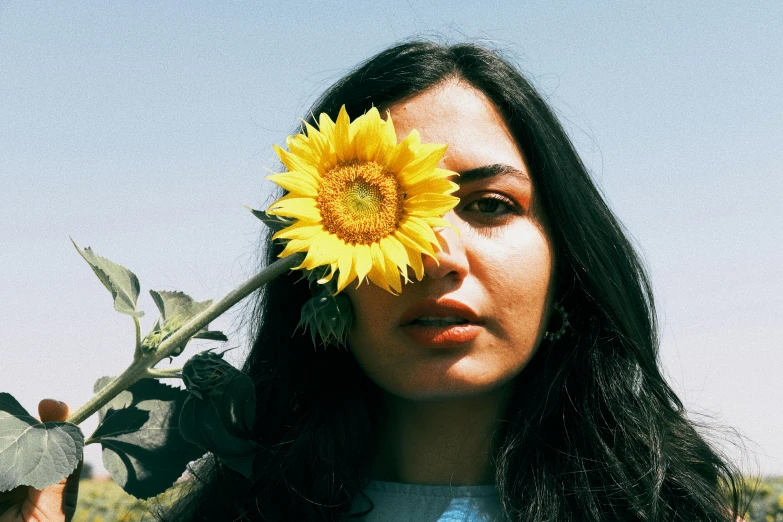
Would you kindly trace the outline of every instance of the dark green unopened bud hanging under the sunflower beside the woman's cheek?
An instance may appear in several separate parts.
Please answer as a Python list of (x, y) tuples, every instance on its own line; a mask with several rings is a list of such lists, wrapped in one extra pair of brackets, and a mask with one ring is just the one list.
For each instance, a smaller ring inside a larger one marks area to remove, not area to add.
[(352, 324), (351, 301), (343, 294), (333, 295), (328, 287), (324, 287), (302, 306), (297, 328), (310, 330), (313, 344), (317, 344), (317, 335), (325, 344), (344, 346)]

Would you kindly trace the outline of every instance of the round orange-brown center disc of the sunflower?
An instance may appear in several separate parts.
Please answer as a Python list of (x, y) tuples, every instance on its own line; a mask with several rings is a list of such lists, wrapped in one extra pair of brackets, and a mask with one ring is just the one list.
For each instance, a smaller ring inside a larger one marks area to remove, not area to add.
[(317, 200), (327, 231), (368, 245), (399, 226), (405, 196), (397, 178), (377, 163), (350, 161), (323, 176)]

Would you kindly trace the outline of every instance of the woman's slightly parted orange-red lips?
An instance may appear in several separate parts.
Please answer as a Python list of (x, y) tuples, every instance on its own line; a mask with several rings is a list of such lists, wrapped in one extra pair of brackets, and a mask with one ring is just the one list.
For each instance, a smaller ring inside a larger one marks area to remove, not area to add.
[(428, 348), (464, 346), (481, 333), (481, 321), (469, 306), (450, 299), (420, 301), (400, 319), (402, 332)]

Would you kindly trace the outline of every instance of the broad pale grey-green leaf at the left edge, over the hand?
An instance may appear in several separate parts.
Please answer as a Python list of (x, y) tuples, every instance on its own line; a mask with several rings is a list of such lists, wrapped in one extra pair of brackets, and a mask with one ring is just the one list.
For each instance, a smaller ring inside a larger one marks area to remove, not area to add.
[(40, 422), (10, 394), (0, 393), (0, 491), (41, 489), (73, 473), (84, 435), (70, 422)]

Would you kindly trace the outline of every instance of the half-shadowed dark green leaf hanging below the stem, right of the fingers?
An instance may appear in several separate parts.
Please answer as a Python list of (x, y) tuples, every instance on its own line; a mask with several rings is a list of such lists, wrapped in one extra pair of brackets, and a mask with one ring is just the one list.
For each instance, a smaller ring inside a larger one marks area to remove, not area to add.
[(130, 397), (110, 403), (91, 439), (101, 443), (103, 465), (114, 481), (146, 499), (171, 487), (204, 451), (180, 434), (185, 390), (142, 379), (126, 391)]

